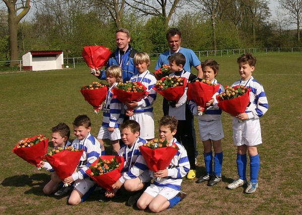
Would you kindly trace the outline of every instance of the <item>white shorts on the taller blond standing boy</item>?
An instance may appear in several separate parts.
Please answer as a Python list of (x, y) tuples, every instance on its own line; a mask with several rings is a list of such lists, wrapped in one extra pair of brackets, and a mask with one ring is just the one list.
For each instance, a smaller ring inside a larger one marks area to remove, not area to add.
[(153, 112), (134, 113), (129, 120), (136, 121), (140, 126), (139, 137), (148, 140), (154, 138), (154, 117)]

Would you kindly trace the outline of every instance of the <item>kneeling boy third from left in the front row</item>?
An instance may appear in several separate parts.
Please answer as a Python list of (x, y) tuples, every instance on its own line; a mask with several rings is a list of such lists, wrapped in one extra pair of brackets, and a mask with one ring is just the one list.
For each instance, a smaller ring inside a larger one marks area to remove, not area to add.
[(115, 190), (111, 193), (105, 193), (105, 196), (113, 197), (117, 189), (124, 185), (127, 191), (139, 191), (128, 199), (128, 205), (133, 206), (146, 185), (149, 185), (151, 179), (149, 177), (148, 167), (139, 151), (139, 147), (147, 143), (147, 141), (139, 137), (140, 126), (133, 120), (128, 120), (121, 124), (120, 130), (124, 145), (121, 147), (118, 155), (125, 159), (124, 168), (121, 171), (119, 180), (112, 185), (112, 188)]

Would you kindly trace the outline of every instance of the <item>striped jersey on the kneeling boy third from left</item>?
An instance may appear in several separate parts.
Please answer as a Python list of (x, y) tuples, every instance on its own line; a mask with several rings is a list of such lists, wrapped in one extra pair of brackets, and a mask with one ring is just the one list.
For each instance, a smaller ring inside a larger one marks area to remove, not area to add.
[(121, 177), (119, 178), (121, 183), (124, 183), (125, 180), (138, 177), (144, 171), (149, 171), (138, 148), (144, 143), (147, 143), (147, 141), (138, 137), (131, 148), (124, 144), (119, 150), (118, 155), (124, 157), (125, 160), (124, 168), (122, 169)]

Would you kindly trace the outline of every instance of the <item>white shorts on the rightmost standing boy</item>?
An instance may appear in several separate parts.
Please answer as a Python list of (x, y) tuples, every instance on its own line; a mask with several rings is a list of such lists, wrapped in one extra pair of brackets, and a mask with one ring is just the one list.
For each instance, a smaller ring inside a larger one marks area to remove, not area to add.
[(238, 122), (233, 118), (233, 140), (235, 146), (256, 146), (262, 143), (261, 127), (259, 119), (244, 120)]

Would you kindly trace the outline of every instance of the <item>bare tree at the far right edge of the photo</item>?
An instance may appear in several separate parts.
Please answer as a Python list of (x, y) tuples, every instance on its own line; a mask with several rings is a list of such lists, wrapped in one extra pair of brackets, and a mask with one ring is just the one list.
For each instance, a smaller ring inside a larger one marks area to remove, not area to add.
[(300, 45), (300, 23), (302, 22), (302, 0), (279, 0), (282, 9), (288, 12), (288, 16), (294, 20), (297, 26), (297, 42)]

